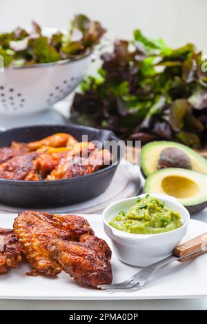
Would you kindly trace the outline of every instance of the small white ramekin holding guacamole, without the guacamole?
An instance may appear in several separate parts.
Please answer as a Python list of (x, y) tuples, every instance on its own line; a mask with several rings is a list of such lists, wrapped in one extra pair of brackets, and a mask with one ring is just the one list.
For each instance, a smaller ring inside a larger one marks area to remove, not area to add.
[[(141, 194), (143, 198), (146, 194)], [(103, 225), (106, 234), (110, 237), (113, 249), (119, 260), (137, 267), (146, 267), (161, 259), (166, 258), (172, 253), (173, 248), (179, 244), (186, 235), (190, 214), (186, 208), (181, 205), (172, 196), (165, 194), (150, 194), (160, 201), (164, 201), (166, 207), (175, 210), (181, 214), (183, 225), (171, 232), (158, 234), (130, 234), (121, 232), (109, 225), (109, 222), (119, 214), (120, 211), (126, 212), (128, 208), (136, 203), (136, 197), (122, 199), (112, 203), (103, 211)]]

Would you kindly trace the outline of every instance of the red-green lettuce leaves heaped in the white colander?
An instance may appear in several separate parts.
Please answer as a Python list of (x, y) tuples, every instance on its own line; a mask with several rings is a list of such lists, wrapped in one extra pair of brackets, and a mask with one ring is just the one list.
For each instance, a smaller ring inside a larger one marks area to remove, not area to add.
[(6, 67), (74, 58), (87, 54), (105, 32), (99, 22), (83, 14), (75, 16), (67, 34), (56, 32), (51, 37), (43, 35), (41, 27), (33, 21), (31, 32), (16, 28), (13, 32), (0, 34), (0, 55)]

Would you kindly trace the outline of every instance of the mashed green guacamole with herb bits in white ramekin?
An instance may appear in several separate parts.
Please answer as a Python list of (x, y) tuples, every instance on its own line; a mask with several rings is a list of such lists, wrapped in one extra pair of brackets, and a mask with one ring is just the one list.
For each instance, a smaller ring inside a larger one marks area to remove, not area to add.
[(142, 199), (138, 197), (135, 205), (126, 212), (119, 212), (109, 224), (117, 230), (132, 234), (169, 232), (182, 225), (179, 212), (170, 210), (165, 207), (164, 201), (149, 194)]

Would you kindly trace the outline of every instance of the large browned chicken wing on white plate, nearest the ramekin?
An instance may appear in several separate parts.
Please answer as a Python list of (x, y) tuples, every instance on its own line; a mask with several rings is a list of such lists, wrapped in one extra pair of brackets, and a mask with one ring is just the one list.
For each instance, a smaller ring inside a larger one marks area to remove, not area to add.
[(22, 212), (14, 234), (34, 268), (28, 275), (56, 276), (64, 270), (81, 285), (112, 282), (110, 248), (81, 216)]

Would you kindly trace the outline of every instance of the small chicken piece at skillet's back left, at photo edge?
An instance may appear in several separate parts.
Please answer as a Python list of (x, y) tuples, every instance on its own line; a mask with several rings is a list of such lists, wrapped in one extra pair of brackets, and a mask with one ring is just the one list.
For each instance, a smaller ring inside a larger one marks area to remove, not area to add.
[(11, 146), (0, 148), (0, 164), (12, 159), (14, 156), (20, 156), (27, 152), (28, 148), (25, 143), (12, 142)]

